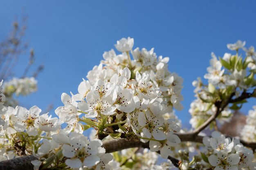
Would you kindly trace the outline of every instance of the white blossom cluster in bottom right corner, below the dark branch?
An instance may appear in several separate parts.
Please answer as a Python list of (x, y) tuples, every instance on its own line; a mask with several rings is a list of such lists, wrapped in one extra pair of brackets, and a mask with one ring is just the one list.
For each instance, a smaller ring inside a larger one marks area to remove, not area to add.
[(231, 140), (217, 131), (211, 136), (203, 138), (205, 148), (202, 156), (214, 170), (256, 169), (252, 150), (245, 148), (238, 139)]

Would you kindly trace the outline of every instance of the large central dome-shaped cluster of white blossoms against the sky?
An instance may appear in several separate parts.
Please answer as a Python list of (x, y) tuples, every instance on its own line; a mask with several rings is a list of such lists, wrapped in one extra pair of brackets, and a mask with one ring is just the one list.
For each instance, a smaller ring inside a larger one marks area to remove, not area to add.
[[(167, 158), (170, 147), (180, 143), (173, 134), (180, 127), (166, 115), (172, 114), (173, 107), (182, 109), (183, 80), (168, 72), (168, 57), (157, 59), (153, 49), (132, 50), (133, 39), (123, 38), (115, 47), (123, 53), (105, 52), (105, 60), (88, 72), (88, 81), (83, 79), (80, 83), (79, 94), (62, 94), (64, 106), (55, 113), (68, 124), (63, 133), (83, 133), (81, 121), (96, 127), (99, 136), (124, 135), (142, 142), (150, 140), (150, 150), (161, 150), (162, 157)], [(134, 60), (130, 59), (129, 51)], [(111, 127), (117, 124), (120, 129)]]

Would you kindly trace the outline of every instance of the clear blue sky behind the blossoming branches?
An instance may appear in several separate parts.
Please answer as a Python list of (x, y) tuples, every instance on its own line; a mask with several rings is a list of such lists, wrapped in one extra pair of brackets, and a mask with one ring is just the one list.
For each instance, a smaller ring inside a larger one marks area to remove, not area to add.
[[(158, 56), (170, 57), (169, 70), (184, 78), (184, 110), (176, 114), (189, 126), (191, 83), (206, 73), (211, 52), (223, 56), (230, 52), (227, 43), (238, 39), (256, 46), (255, 7), (253, 0), (0, 0), (0, 39), (15, 17), (29, 17), (25, 40), (45, 70), (38, 77), (38, 92), (20, 98), (20, 104), (45, 110), (52, 102), (54, 109), (61, 106), (63, 92), (76, 93), (82, 78), (117, 40), (133, 37), (134, 48), (154, 47)], [(18, 76), (27, 55), (15, 70)], [(251, 109), (255, 99), (250, 104), (242, 111)]]

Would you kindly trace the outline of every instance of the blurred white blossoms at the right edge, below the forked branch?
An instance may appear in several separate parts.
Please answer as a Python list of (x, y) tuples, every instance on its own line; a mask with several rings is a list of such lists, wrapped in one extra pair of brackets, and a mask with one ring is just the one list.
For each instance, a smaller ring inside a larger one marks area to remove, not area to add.
[(256, 106), (254, 110), (249, 110), (246, 124), (241, 131), (242, 139), (248, 142), (256, 142)]

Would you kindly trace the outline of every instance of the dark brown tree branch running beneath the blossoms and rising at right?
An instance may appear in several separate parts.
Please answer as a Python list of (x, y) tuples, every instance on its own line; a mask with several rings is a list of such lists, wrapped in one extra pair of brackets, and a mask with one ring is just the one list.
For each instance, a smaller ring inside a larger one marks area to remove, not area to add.
[[(201, 126), (199, 126), (197, 129), (191, 132), (187, 133), (175, 133), (182, 142), (198, 142), (202, 143), (203, 137), (201, 135), (198, 135), (202, 130), (204, 130), (213, 120), (215, 120), (218, 115), (223, 111), (223, 109), (229, 104), (233, 102), (239, 102), (246, 98), (252, 97), (256, 89), (252, 93), (246, 93), (243, 92), (241, 96), (238, 98), (232, 99), (232, 97), (235, 95), (234, 93), (231, 94), (231, 96), (228, 98), (228, 100), (224, 103), (222, 101), (217, 101), (215, 103), (215, 106), (217, 107), (217, 111), (214, 115), (212, 115), (207, 121), (205, 121)], [(249, 148), (252, 148), (252, 150), (256, 150), (256, 143), (254, 142), (246, 142), (242, 139), (240, 139), (240, 142)], [(102, 145), (103, 148), (106, 149), (106, 153), (112, 153), (115, 151), (128, 149), (128, 148), (149, 148), (149, 142), (143, 143), (140, 141), (134, 142), (134, 141), (127, 141), (126, 139), (117, 139), (117, 140), (110, 140), (103, 142)], [(159, 153), (159, 152), (158, 152)], [(28, 155), (24, 157), (18, 157), (15, 159), (9, 159), (6, 161), (0, 162), (0, 169), (12, 169), (12, 170), (33, 170), (33, 165), (31, 164), (31, 161), (36, 160), (37, 158), (33, 155)], [(171, 156), (168, 157), (168, 159), (171, 160), (174, 166), (179, 167), (180, 161), (178, 159), (175, 159)]]

